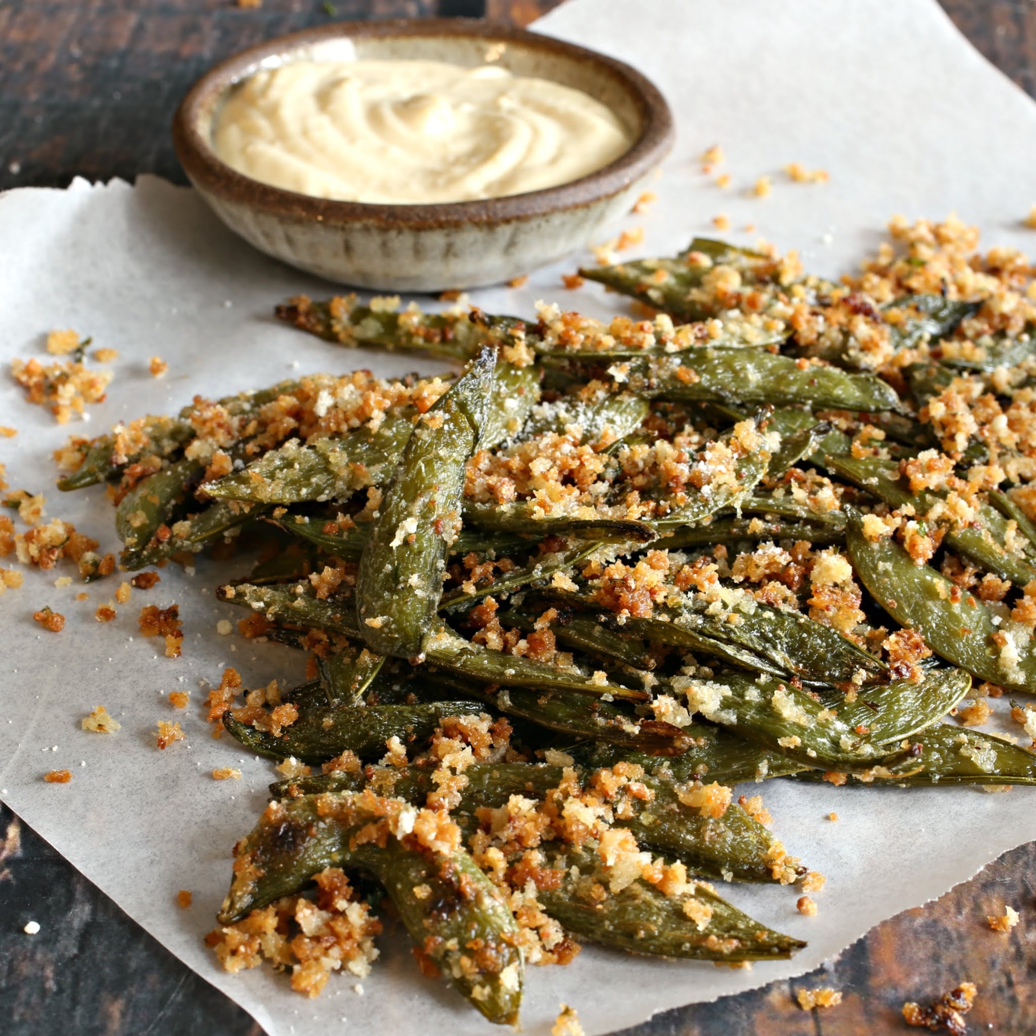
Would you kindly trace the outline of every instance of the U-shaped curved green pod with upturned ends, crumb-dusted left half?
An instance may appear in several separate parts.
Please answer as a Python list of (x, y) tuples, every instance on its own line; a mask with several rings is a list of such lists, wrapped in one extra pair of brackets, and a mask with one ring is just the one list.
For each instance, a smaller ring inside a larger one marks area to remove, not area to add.
[[(675, 686), (684, 686), (683, 678)], [(960, 669), (930, 669), (922, 684), (892, 681), (861, 690), (853, 702), (816, 700), (790, 682), (737, 672), (690, 681), (686, 689), (707, 719), (803, 766), (864, 770), (901, 755), (896, 743), (938, 723), (971, 689), (971, 679)]]

